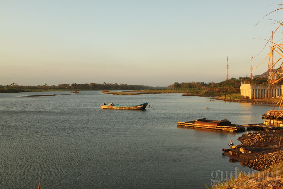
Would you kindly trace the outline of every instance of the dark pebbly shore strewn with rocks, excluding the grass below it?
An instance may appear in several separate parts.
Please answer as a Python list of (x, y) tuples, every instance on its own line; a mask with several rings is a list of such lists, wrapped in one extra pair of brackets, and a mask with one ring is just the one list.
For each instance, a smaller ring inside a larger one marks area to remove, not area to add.
[(223, 149), (223, 153), (250, 168), (262, 171), (283, 161), (281, 139), (283, 139), (283, 130), (247, 133), (238, 138), (242, 142), (241, 145)]

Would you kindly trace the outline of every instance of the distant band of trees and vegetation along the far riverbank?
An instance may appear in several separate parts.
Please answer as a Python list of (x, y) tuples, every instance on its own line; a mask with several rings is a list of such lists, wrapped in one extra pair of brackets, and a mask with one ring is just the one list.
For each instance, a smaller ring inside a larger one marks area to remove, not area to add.
[[(267, 78), (257, 77), (251, 79), (249, 77), (231, 78), (220, 83), (209, 82), (175, 82), (172, 85), (166, 87), (153, 87), (145, 85), (128, 85), (128, 84), (110, 84), (110, 83), (85, 83), (85, 84), (58, 84), (58, 86), (47, 84), (37, 86), (20, 86), (16, 83), (10, 85), (0, 85), (0, 93), (7, 92), (35, 92), (35, 91), (72, 91), (72, 90), (131, 90), (131, 92), (150, 92), (150, 93), (186, 93), (189, 95), (215, 95), (209, 88), (239, 88), (242, 82), (251, 82), (253, 84), (268, 84)], [(229, 91), (218, 90), (219, 95), (225, 94)], [(232, 92), (235, 93), (235, 92)]]

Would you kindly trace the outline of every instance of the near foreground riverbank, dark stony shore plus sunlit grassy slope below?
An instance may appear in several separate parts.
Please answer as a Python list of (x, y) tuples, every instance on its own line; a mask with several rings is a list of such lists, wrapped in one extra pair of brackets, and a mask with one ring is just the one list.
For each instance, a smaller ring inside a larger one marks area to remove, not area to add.
[[(283, 130), (246, 133), (238, 138), (241, 145), (223, 149), (224, 154), (256, 169), (248, 174), (239, 170), (237, 177), (212, 188), (282, 188), (283, 187)], [(241, 174), (240, 174), (241, 173)]]

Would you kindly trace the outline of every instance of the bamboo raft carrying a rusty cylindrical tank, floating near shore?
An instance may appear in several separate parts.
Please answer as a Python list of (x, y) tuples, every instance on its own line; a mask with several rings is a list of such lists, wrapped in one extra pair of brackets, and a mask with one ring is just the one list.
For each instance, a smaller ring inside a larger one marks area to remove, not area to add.
[(177, 122), (177, 125), (181, 125), (185, 127), (218, 129), (222, 131), (231, 131), (231, 132), (244, 131), (245, 129), (247, 129), (243, 125), (231, 124), (231, 122), (226, 119), (218, 121), (218, 120), (207, 120), (206, 118), (202, 118), (188, 122)]

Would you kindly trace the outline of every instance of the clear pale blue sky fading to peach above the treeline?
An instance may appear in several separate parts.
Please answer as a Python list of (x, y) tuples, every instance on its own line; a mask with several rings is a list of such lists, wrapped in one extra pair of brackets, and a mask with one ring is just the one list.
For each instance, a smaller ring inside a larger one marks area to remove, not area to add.
[(229, 78), (250, 77), (251, 56), (255, 68), (283, 19), (271, 3), (283, 2), (1, 0), (0, 84), (218, 83), (227, 56)]

